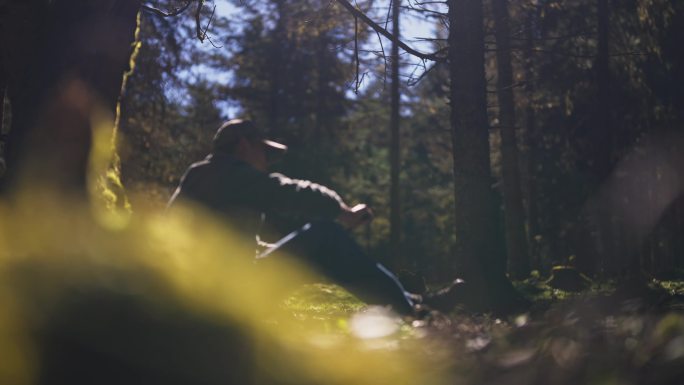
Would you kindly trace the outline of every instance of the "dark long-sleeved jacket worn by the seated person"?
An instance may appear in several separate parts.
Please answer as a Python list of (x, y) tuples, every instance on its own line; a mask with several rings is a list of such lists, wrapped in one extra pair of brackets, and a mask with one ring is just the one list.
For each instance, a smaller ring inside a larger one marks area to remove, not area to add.
[(229, 155), (211, 154), (192, 164), (169, 206), (189, 200), (221, 214), (242, 235), (254, 237), (263, 215), (334, 219), (342, 199), (333, 190), (307, 180), (267, 174)]

